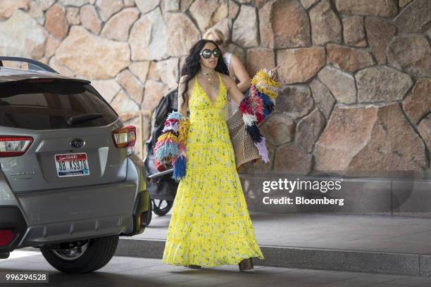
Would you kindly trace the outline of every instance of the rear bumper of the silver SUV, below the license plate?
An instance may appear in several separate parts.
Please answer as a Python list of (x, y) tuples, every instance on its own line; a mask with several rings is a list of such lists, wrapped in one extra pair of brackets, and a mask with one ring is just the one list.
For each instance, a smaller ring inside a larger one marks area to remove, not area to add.
[[(0, 253), (104, 236), (144, 231), (139, 217), (149, 210), (149, 192), (139, 160), (128, 165), (125, 181), (98, 186), (14, 193), (18, 206), (0, 205), (0, 229), (19, 229)], [(132, 163), (132, 162), (130, 162)]]

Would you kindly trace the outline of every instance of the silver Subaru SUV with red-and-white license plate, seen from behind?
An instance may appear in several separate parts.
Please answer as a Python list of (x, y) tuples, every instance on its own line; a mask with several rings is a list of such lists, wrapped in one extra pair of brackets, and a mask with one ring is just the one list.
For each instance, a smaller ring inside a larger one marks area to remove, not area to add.
[(104, 267), (151, 220), (135, 127), (84, 79), (0, 65), (0, 258), (40, 248), (61, 272)]

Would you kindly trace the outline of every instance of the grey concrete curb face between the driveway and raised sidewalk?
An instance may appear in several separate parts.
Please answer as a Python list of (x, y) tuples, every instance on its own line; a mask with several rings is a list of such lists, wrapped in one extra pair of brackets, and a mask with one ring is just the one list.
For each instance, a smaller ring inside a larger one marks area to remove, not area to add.
[[(161, 259), (164, 240), (120, 238), (116, 256)], [(431, 255), (263, 245), (254, 264), (349, 272), (431, 276)]]

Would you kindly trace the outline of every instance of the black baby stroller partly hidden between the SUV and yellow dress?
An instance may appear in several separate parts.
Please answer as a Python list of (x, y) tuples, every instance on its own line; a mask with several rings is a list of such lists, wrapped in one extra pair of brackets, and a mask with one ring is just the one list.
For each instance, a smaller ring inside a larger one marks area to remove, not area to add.
[(149, 191), (151, 205), (156, 215), (166, 215), (172, 208), (173, 200), (177, 193), (178, 184), (173, 179), (173, 166), (157, 165), (153, 154), (153, 148), (161, 135), (163, 124), (168, 114), (177, 111), (178, 89), (171, 89), (159, 101), (151, 117), (151, 135), (145, 142), (146, 158), (144, 166), (146, 170), (146, 189)]

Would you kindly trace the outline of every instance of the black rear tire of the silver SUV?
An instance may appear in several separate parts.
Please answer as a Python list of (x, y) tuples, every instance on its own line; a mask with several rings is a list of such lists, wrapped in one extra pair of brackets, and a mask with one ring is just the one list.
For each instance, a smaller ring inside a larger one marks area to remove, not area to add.
[(84, 251), (74, 259), (67, 258), (68, 250), (40, 248), (42, 255), (52, 267), (65, 273), (88, 273), (104, 267), (113, 257), (118, 236), (92, 238)]

